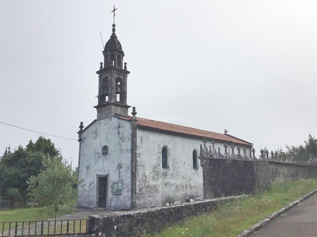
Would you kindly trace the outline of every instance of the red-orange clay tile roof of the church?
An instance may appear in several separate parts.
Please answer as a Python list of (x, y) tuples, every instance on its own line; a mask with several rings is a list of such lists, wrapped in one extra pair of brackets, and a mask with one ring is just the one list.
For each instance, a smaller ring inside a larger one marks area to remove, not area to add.
[[(114, 115), (115, 117), (122, 118), (125, 120), (131, 120), (131, 116), (117, 116)], [(165, 123), (161, 121), (156, 121), (156, 120), (151, 120), (151, 119), (146, 119), (146, 118), (139, 118), (138, 117), (138, 122), (137, 126), (140, 128), (149, 128), (149, 129), (157, 129), (161, 131), (167, 131), (167, 132), (173, 132), (173, 133), (178, 133), (178, 134), (184, 134), (184, 135), (189, 135), (189, 136), (196, 136), (200, 138), (211, 138), (215, 140), (220, 140), (224, 142), (230, 142), (230, 143), (238, 143), (238, 144), (243, 144), (243, 145), (252, 145), (252, 143), (244, 141), (240, 138), (233, 137), (231, 135), (226, 135), (222, 133), (217, 133), (217, 132), (211, 132), (211, 131), (205, 131), (197, 128), (191, 128), (191, 127), (186, 127), (182, 125), (177, 125), (177, 124), (170, 124), (170, 123)]]

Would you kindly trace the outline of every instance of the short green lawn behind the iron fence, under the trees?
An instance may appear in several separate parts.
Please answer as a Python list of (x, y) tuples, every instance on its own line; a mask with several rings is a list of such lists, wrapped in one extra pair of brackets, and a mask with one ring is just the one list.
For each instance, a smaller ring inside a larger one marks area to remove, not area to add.
[[(54, 212), (52, 215), (38, 213), (38, 208), (15, 208), (0, 211), (0, 221), (42, 221), (50, 218), (54, 218)], [(72, 213), (71, 210), (61, 209), (58, 211), (57, 216), (66, 215)]]

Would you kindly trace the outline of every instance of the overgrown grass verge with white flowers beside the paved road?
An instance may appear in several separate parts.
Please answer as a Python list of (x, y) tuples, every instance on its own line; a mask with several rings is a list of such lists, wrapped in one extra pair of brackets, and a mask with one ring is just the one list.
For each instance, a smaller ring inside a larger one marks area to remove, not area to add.
[(174, 224), (156, 236), (235, 236), (316, 186), (316, 179), (301, 178), (273, 185), (269, 191), (220, 204), (211, 214)]

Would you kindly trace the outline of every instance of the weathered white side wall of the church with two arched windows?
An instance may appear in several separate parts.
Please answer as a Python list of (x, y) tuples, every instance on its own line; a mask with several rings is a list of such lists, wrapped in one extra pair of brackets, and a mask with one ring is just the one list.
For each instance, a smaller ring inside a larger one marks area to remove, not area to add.
[[(137, 130), (137, 208), (161, 206), (166, 203), (186, 202), (203, 197), (203, 173), (193, 169), (193, 150), (201, 139)], [(212, 145), (210, 142), (207, 145)], [(168, 147), (169, 168), (162, 168), (162, 148)], [(223, 143), (215, 148), (224, 153)]]

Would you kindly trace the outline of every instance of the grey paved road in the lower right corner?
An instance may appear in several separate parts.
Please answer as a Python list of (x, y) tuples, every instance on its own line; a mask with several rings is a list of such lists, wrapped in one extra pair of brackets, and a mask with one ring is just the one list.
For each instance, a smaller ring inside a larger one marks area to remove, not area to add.
[(309, 197), (296, 206), (271, 221), (256, 232), (252, 237), (273, 236), (317, 236), (317, 195)]

